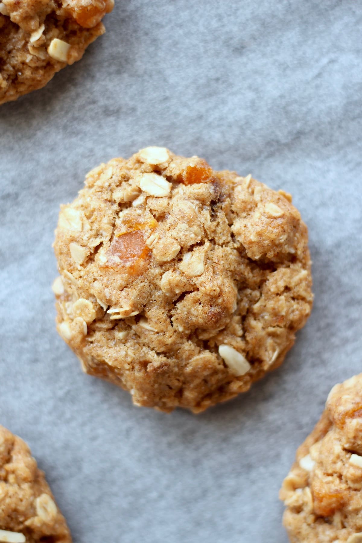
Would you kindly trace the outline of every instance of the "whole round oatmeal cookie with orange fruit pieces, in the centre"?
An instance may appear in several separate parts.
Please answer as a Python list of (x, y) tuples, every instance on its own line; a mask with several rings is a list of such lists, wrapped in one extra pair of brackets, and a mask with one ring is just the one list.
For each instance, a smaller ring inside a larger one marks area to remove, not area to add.
[(199, 412), (245, 392), (312, 307), (290, 195), (166, 148), (88, 173), (54, 248), (60, 335), (138, 406)]

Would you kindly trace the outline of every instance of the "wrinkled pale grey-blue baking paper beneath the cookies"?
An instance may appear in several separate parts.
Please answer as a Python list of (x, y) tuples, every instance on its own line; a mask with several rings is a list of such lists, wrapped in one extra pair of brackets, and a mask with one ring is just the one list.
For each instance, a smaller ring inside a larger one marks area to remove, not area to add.
[[(355, 1), (116, 0), (107, 33), (0, 108), (0, 422), (75, 543), (286, 543), (278, 489), (361, 364), (361, 23)], [(315, 305), (283, 366), (194, 416), (132, 407), (54, 328), (51, 244), (85, 174), (150, 144), (291, 192)]]

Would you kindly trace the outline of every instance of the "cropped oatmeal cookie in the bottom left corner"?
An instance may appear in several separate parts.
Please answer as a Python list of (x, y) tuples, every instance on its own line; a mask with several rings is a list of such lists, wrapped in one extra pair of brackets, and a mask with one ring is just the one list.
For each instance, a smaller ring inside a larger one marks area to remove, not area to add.
[(0, 426), (0, 541), (72, 541), (28, 445), (3, 426)]

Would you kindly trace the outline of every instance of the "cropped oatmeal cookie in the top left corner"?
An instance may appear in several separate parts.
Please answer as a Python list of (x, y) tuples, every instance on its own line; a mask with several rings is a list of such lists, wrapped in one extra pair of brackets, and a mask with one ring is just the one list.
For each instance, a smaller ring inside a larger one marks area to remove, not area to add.
[(114, 0), (2, 0), (0, 104), (41, 89), (104, 33)]

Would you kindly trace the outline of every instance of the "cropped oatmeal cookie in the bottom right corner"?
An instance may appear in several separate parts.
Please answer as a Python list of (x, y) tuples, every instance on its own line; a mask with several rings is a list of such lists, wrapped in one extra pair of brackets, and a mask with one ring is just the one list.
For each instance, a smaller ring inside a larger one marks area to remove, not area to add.
[(362, 542), (362, 374), (333, 387), (280, 497), (293, 543)]

